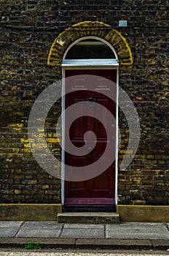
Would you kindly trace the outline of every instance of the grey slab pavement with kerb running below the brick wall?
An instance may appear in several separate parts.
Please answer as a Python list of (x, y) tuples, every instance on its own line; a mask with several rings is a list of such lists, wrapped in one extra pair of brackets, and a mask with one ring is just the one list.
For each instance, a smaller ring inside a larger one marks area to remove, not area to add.
[(0, 247), (22, 247), (28, 242), (44, 248), (165, 249), (169, 224), (125, 222), (72, 224), (0, 221)]

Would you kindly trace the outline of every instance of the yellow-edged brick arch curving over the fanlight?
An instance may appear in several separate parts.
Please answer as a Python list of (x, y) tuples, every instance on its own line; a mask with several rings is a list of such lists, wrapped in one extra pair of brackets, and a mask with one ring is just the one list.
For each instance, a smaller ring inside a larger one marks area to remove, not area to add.
[(119, 64), (133, 64), (132, 52), (125, 37), (116, 29), (112, 29), (108, 24), (98, 21), (76, 23), (60, 33), (52, 43), (47, 64), (60, 67), (63, 61), (63, 54), (68, 46), (82, 37), (100, 37), (105, 39), (116, 50)]

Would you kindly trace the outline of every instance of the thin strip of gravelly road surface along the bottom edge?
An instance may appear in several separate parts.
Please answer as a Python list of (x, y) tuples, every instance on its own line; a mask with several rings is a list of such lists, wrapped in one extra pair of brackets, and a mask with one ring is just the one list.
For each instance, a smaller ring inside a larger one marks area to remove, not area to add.
[(60, 250), (43, 250), (43, 251), (28, 251), (28, 250), (13, 250), (13, 249), (0, 249), (0, 256), (166, 256), (169, 252), (157, 251), (63, 251)]

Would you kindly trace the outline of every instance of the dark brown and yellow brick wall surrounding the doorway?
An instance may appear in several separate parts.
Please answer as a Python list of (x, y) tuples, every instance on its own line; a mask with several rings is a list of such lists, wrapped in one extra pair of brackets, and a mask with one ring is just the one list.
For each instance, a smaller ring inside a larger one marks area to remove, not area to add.
[[(60, 180), (42, 170), (31, 154), (28, 116), (36, 97), (61, 78), (59, 64), (47, 64), (52, 43), (65, 29), (88, 20), (119, 31), (133, 56), (133, 64), (119, 60), (119, 85), (138, 111), (141, 140), (133, 162), (119, 170), (118, 203), (168, 205), (168, 6), (168, 0), (1, 0), (0, 203), (60, 203)], [(127, 20), (127, 27), (119, 27), (119, 20)], [(70, 38), (65, 40), (68, 45)], [(58, 102), (45, 127), (48, 146), (58, 158), (60, 110)], [(120, 162), (129, 140), (122, 110), (119, 127)]]

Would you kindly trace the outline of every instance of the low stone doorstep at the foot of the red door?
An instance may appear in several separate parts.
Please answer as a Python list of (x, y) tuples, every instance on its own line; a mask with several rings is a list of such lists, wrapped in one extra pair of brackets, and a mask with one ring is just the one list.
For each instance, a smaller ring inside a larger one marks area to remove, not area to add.
[(58, 214), (62, 223), (119, 223), (119, 214), (115, 212), (66, 212)]

